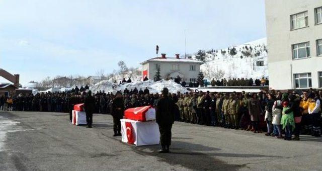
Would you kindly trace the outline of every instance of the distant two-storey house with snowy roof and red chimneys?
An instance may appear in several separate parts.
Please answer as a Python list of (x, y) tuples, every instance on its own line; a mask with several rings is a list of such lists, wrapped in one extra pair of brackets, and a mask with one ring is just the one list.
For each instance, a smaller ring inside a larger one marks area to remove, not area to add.
[(200, 65), (202, 61), (180, 58), (179, 54), (176, 57), (166, 57), (166, 54), (162, 54), (162, 57), (155, 57), (142, 62), (143, 77), (152, 79), (155, 76), (157, 68), (160, 69), (160, 75), (164, 79), (176, 78), (178, 75), (186, 82), (194, 82), (197, 80), (200, 72)]

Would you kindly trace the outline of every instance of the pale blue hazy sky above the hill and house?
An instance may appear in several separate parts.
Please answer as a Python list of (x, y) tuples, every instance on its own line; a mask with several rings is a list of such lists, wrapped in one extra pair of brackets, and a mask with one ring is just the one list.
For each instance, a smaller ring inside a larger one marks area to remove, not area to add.
[(0, 16), (0, 68), (22, 84), (184, 54), (185, 30), (187, 53), (266, 37), (264, 0), (0, 0)]

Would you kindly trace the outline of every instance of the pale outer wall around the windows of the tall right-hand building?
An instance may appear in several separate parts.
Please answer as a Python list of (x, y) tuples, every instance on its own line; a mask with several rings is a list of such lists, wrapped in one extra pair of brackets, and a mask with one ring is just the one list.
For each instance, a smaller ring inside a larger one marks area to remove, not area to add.
[[(322, 24), (315, 25), (314, 9), (321, 0), (266, 0), (268, 71), (270, 88), (295, 89), (293, 74), (311, 72), (312, 88), (318, 88), (322, 56), (316, 56), (316, 40), (322, 39)], [(290, 16), (308, 12), (308, 27), (291, 30)], [(310, 57), (292, 60), (292, 44), (310, 42)]]

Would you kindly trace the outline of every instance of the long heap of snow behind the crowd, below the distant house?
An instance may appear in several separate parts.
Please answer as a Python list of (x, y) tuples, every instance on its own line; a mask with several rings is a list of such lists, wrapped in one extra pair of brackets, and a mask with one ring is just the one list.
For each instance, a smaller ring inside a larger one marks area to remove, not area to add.
[(93, 87), (90, 88), (90, 90), (93, 93), (99, 92), (99, 91), (105, 91), (106, 93), (116, 93), (117, 91), (123, 92), (127, 88), (129, 91), (131, 89), (136, 88), (137, 90), (144, 90), (147, 88), (150, 93), (161, 93), (163, 88), (168, 88), (169, 93), (186, 93), (188, 90), (184, 87), (182, 87), (180, 84), (174, 82), (173, 80), (159, 80), (159, 81), (153, 81), (153, 80), (147, 80), (147, 81), (134, 81), (130, 83), (114, 83), (110, 80), (102, 80), (98, 82), (97, 84), (93, 85)]

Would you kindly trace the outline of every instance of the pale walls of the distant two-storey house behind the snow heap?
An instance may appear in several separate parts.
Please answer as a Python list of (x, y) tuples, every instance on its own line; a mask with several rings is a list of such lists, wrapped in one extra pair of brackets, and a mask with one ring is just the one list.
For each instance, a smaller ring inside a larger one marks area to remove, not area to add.
[[(167, 78), (167, 75), (172, 72), (179, 72), (184, 75), (183, 79), (185, 79), (186, 82), (189, 82), (190, 78), (196, 78), (198, 77), (198, 73), (200, 71), (200, 64), (198, 63), (189, 63), (189, 62), (148, 62), (143, 65), (143, 70), (146, 68), (148, 69), (148, 78), (153, 79), (156, 69), (154, 68), (154, 64), (160, 64), (160, 75), (162, 78)], [(179, 64), (179, 70), (172, 70), (172, 64)], [(195, 65), (196, 70), (190, 71), (190, 65)], [(177, 76), (177, 75), (175, 75)]]

